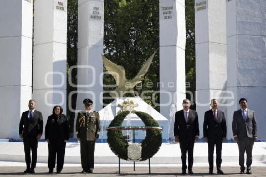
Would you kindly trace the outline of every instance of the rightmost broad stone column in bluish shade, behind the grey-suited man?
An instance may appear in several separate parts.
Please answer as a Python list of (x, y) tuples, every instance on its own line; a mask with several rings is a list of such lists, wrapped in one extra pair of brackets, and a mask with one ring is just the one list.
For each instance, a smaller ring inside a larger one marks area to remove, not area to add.
[(238, 100), (248, 99), (248, 108), (257, 113), (258, 138), (265, 140), (266, 114), (266, 1), (227, 0), (228, 91), (234, 104), (228, 107), (230, 137), (233, 112)]

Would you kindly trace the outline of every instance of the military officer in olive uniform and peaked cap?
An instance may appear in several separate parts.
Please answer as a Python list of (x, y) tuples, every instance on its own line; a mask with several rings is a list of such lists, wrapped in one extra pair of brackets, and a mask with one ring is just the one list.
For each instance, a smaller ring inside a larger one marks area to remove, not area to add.
[(76, 133), (80, 141), (82, 173), (93, 173), (94, 147), (100, 134), (100, 116), (92, 110), (92, 100), (84, 99), (83, 104), (85, 110), (78, 113)]

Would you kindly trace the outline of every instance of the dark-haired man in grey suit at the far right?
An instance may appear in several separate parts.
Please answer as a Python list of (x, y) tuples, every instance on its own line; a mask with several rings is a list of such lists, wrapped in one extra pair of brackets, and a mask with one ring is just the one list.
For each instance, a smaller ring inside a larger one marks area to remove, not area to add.
[(252, 149), (254, 141), (258, 139), (256, 114), (253, 110), (248, 109), (248, 100), (241, 98), (239, 100), (240, 108), (233, 115), (233, 136), (238, 144), (240, 174), (244, 174), (244, 155), (247, 154), (247, 174), (251, 174)]

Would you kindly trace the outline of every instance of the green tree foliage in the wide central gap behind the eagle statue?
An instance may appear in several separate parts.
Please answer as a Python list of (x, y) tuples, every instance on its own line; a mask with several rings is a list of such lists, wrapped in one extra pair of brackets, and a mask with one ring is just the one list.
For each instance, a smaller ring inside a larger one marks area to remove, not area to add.
[[(159, 48), (159, 0), (109, 0), (104, 3), (105, 56), (123, 66), (126, 78), (132, 79), (144, 62)], [(159, 90), (158, 82), (159, 52), (153, 58), (144, 81), (134, 90), (139, 95), (144, 90), (156, 91)], [(115, 81), (110, 75), (105, 75), (104, 83), (115, 84)], [(151, 96), (151, 93), (144, 96)], [(159, 102), (158, 96), (156, 99), (156, 102)], [(104, 100), (104, 103), (108, 104), (111, 101)], [(151, 99), (145, 101), (153, 105)]]

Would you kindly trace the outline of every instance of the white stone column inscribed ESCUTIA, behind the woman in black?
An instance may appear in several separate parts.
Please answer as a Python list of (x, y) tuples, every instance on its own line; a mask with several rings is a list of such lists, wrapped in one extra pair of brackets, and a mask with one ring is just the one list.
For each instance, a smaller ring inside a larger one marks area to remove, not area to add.
[(66, 113), (66, 41), (67, 0), (35, 0), (33, 99), (44, 125), (54, 105)]

